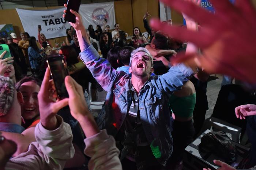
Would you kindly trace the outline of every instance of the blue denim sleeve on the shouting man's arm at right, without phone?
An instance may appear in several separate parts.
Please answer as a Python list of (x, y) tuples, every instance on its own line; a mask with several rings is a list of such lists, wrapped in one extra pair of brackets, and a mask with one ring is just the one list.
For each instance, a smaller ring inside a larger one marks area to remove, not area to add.
[(184, 64), (178, 64), (170, 67), (166, 74), (159, 76), (159, 81), (163, 90), (171, 93), (172, 91), (180, 90), (183, 84), (194, 74), (195, 72), (191, 68)]

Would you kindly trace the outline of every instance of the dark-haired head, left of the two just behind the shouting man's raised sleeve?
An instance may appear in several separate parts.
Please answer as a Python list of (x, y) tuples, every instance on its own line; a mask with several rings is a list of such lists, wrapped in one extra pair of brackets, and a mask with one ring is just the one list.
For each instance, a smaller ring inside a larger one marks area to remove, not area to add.
[(119, 62), (118, 58), (119, 58), (119, 52), (121, 51), (121, 47), (113, 47), (108, 51), (107, 54), (107, 60), (109, 61), (109, 63), (111, 64), (111, 66), (114, 69), (117, 69), (118, 67), (123, 66), (122, 63)]

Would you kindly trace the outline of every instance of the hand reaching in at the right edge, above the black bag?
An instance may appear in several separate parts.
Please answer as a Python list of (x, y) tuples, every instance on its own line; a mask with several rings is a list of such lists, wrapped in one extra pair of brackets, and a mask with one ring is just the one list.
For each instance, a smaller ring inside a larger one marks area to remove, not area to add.
[(238, 119), (245, 119), (245, 116), (256, 115), (255, 104), (245, 104), (235, 108), (236, 116)]

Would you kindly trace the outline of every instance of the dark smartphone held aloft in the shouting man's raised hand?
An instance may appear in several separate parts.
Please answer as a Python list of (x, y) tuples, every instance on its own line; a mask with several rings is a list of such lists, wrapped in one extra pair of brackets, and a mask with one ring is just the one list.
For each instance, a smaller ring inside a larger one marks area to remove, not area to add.
[(78, 12), (81, 4), (81, 0), (68, 0), (67, 2), (67, 12), (65, 13), (65, 21), (76, 23), (76, 16), (70, 12), (70, 9)]

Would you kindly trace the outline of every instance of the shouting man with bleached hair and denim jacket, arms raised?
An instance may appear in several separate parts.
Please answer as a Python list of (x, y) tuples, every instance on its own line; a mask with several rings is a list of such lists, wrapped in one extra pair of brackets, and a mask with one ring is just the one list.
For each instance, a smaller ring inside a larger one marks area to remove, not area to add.
[[(80, 58), (94, 78), (108, 92), (98, 118), (100, 129), (106, 129), (120, 146), (123, 169), (167, 169), (172, 154), (172, 122), (167, 99), (194, 72), (184, 64), (170, 68), (162, 76), (150, 76), (153, 57), (146, 48), (132, 52), (129, 75), (114, 70), (110, 63), (99, 57), (90, 44), (80, 15), (76, 30)], [(123, 147), (121, 147), (123, 145)]]

